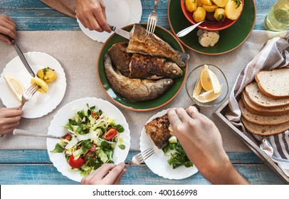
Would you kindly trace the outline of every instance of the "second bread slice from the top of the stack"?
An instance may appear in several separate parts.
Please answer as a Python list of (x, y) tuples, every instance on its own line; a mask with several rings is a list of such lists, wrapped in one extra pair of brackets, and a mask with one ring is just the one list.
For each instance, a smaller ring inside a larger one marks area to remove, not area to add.
[(245, 92), (250, 101), (258, 107), (275, 108), (289, 105), (289, 98), (272, 98), (264, 95), (259, 89), (257, 82), (251, 82), (246, 85)]

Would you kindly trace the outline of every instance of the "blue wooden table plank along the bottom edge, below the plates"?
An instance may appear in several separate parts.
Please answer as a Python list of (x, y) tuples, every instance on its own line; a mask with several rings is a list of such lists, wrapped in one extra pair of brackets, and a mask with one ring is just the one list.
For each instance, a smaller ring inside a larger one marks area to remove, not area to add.
[[(251, 164), (251, 165), (235, 165), (236, 169), (245, 178), (250, 181), (251, 184), (266, 185), (266, 184), (283, 184), (280, 179), (275, 176), (265, 165), (263, 164)], [(70, 179), (62, 176), (61, 173), (52, 164), (38, 163), (38, 164), (0, 164), (0, 184), (78, 184), (78, 182), (71, 181)], [(125, 185), (160, 185), (160, 184), (210, 184), (200, 173), (196, 173), (194, 176), (185, 178), (183, 180), (169, 180), (162, 178), (152, 173), (147, 166), (130, 166), (127, 168), (127, 172), (122, 177), (121, 184)]]

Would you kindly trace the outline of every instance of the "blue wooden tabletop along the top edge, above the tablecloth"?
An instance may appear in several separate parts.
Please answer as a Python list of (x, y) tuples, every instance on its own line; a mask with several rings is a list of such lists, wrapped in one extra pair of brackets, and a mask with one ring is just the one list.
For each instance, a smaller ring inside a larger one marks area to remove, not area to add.
[[(248, 1), (248, 0), (246, 0)], [(142, 0), (142, 18), (140, 22), (146, 23), (147, 16), (152, 11), (154, 0)], [(159, 26), (170, 29), (167, 20), (168, 0), (162, 0), (157, 5)], [(263, 21), (274, 1), (256, 0), (256, 25), (254, 30), (264, 30)], [(38, 0), (6, 0), (0, 1), (0, 13), (14, 18), (18, 31), (80, 31), (75, 19), (65, 16), (51, 9)]]

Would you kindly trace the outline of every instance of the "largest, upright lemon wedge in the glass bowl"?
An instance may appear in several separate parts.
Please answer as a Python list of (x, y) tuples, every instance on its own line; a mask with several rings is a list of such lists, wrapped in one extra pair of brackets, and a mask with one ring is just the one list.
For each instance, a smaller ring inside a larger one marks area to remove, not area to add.
[(201, 72), (201, 86), (206, 91), (213, 90), (215, 94), (221, 91), (218, 77), (213, 71), (209, 70), (208, 65), (204, 65), (204, 69)]

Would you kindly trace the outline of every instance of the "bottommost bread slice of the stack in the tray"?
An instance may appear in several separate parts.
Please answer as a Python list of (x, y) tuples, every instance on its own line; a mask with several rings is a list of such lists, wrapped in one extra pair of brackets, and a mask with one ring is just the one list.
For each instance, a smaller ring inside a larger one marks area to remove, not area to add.
[(284, 124), (278, 124), (274, 126), (264, 126), (259, 124), (253, 124), (251, 122), (248, 122), (244, 117), (241, 117), (243, 125), (246, 127), (246, 129), (251, 132), (252, 134), (258, 134), (261, 136), (270, 136), (273, 134), (280, 134), (283, 131), (286, 131), (289, 129), (289, 122), (286, 122)]

